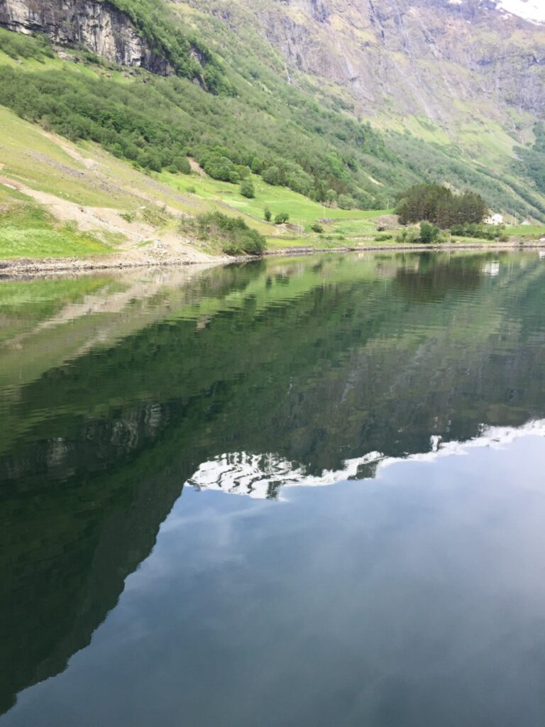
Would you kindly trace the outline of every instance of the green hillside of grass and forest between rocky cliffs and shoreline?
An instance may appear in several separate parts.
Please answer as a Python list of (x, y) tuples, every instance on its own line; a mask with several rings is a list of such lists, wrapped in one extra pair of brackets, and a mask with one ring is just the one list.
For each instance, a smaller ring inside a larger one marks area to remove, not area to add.
[[(370, 244), (373, 218), (422, 180), (545, 220), (541, 126), (516, 164), (497, 119), (460, 127), (462, 144), (388, 108), (371, 126), (338, 88), (304, 74), (288, 83), (275, 44), (235, 2), (228, 22), (196, 0), (114, 4), (176, 75), (0, 28), (1, 258), (215, 254), (221, 244), (184, 223), (209, 212), (243, 217), (270, 249)], [(266, 222), (265, 209), (289, 224)]]

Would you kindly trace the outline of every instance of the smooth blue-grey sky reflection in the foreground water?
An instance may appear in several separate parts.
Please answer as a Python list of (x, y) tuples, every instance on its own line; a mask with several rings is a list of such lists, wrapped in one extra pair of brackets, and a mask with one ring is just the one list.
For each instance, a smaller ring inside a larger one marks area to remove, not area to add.
[(91, 646), (0, 723), (541, 727), (543, 444), (288, 502), (186, 489)]

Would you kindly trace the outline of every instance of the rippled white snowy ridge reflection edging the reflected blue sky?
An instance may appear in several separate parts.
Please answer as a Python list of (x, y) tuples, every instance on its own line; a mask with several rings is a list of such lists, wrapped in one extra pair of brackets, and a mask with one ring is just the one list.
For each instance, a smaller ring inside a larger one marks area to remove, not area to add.
[(465, 454), (475, 447), (500, 449), (517, 438), (534, 435), (545, 437), (545, 419), (537, 419), (522, 427), (481, 427), (480, 434), (468, 441), (443, 442), (430, 438), (430, 451), (408, 454), (406, 457), (384, 457), (369, 452), (363, 457), (347, 459), (342, 470), (326, 470), (322, 475), (308, 475), (303, 465), (277, 457), (275, 454), (222, 454), (203, 462), (187, 481), (202, 490), (219, 490), (230, 494), (247, 495), (257, 499), (280, 499), (280, 491), (288, 487), (318, 487), (347, 480), (365, 480), (379, 475), (380, 470), (396, 462), (434, 462), (440, 457)]

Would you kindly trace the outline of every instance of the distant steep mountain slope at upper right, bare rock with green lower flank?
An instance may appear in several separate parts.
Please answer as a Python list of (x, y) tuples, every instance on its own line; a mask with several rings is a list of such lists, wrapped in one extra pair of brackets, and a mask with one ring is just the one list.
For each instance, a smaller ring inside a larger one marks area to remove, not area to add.
[[(475, 185), (486, 196), (486, 185), (462, 180), (456, 164), (472, 177), (477, 162), (479, 173), (517, 188), (509, 177), (520, 177), (519, 149), (533, 142), (545, 110), (545, 25), (492, 0), (188, 0), (177, 7), (228, 63), (259, 57), (254, 73), (275, 63), (289, 86), (386, 132), (389, 149), (419, 176)], [(271, 60), (270, 49), (280, 58)], [(488, 198), (522, 213), (498, 190)]]

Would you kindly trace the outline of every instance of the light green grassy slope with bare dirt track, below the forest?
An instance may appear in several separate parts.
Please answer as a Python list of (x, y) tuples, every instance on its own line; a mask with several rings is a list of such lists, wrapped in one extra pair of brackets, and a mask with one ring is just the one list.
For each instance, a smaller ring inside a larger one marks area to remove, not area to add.
[[(171, 174), (135, 169), (94, 142), (78, 143), (46, 132), (0, 107), (0, 259), (15, 257), (86, 257), (132, 254), (150, 239), (164, 240), (187, 217), (208, 212), (241, 216), (273, 248), (333, 246), (310, 231), (324, 206), (285, 187), (253, 175), (256, 196), (246, 199), (239, 185), (193, 172)], [(265, 222), (264, 209), (287, 212), (302, 228)], [(325, 208), (333, 222), (346, 220), (355, 233), (374, 234), (374, 212)], [(118, 229), (120, 226), (120, 229)], [(191, 241), (202, 252), (221, 252), (214, 241)]]

